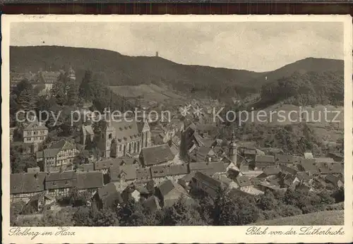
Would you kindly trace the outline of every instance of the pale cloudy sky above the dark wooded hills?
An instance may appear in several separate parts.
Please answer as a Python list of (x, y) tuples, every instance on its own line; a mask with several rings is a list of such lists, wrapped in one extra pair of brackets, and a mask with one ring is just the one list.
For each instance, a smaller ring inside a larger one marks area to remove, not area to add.
[(57, 45), (183, 64), (273, 71), (308, 57), (343, 59), (343, 24), (11, 23), (11, 46)]

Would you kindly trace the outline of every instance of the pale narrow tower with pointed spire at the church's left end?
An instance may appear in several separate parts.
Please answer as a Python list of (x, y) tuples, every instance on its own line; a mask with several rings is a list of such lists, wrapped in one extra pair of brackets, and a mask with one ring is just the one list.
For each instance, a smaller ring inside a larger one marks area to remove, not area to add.
[(100, 150), (102, 150), (103, 157), (110, 157), (110, 152), (112, 149), (112, 143), (114, 142), (116, 131), (112, 126), (112, 114), (110, 114), (110, 108), (107, 111), (106, 118), (107, 125), (102, 130), (102, 135), (100, 138)]

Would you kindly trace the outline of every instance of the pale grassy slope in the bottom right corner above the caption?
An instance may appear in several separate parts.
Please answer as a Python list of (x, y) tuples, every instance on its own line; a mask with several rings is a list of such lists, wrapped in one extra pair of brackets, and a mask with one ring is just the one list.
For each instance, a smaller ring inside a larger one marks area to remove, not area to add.
[(340, 226), (344, 224), (344, 210), (322, 211), (311, 214), (301, 214), (281, 219), (259, 221), (256, 226)]

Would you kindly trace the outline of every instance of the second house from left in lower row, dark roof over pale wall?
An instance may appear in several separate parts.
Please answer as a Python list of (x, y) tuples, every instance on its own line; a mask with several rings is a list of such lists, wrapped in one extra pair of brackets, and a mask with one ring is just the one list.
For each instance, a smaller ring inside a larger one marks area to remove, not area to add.
[(59, 199), (67, 197), (70, 190), (77, 185), (77, 174), (75, 171), (64, 171), (49, 173), (45, 178), (45, 190), (51, 197)]

